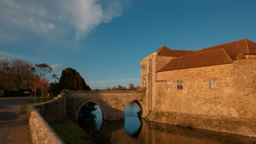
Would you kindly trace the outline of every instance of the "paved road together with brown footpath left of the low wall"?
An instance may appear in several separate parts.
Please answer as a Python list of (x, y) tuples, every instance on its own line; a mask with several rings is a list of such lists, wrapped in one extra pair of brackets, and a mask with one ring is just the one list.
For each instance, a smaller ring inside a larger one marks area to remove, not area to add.
[(23, 104), (33, 98), (0, 98), (0, 144), (30, 144), (26, 115), (19, 115)]

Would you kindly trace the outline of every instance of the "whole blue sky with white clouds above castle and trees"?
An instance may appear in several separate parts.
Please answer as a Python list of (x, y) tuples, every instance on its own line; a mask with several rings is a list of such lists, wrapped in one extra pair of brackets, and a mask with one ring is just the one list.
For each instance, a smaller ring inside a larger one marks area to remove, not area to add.
[(61, 70), (93, 89), (140, 85), (139, 62), (162, 45), (199, 50), (256, 42), (255, 0), (0, 0), (0, 56)]

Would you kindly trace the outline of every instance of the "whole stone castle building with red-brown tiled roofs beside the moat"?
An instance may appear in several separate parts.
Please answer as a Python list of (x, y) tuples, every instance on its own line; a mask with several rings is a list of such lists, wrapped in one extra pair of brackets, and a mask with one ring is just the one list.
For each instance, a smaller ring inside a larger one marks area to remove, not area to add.
[(162, 46), (140, 66), (149, 119), (256, 136), (256, 43), (243, 39), (199, 51)]

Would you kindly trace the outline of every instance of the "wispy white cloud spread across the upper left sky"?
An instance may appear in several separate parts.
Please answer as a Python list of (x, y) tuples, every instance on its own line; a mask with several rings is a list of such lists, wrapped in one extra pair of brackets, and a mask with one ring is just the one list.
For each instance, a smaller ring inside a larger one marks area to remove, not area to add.
[(0, 0), (0, 30), (5, 35), (25, 31), (41, 37), (73, 34), (76, 40), (80, 40), (99, 24), (120, 17), (123, 3), (122, 0), (58, 0), (47, 3), (44, 0)]

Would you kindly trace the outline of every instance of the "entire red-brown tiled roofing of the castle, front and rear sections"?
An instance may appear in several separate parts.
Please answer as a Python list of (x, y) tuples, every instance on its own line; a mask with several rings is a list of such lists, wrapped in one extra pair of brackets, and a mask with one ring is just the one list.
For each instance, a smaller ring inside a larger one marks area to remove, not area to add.
[(217, 64), (229, 64), (237, 60), (238, 53), (256, 54), (256, 43), (243, 39), (231, 43), (203, 48), (199, 51), (171, 50), (166, 46), (157, 50), (158, 56), (173, 56), (165, 66), (157, 72), (193, 67), (205, 67)]

